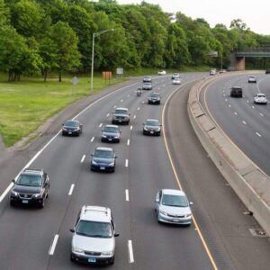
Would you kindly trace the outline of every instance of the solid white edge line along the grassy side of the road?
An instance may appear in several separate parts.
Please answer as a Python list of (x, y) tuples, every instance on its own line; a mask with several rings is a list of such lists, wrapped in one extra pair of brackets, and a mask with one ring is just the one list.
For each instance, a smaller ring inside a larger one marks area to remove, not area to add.
[[(128, 87), (128, 86), (131, 86), (131, 85), (137, 85), (137, 84), (139, 84), (139, 83), (134, 83), (134, 84), (130, 84), (130, 85), (125, 85), (125, 86), (123, 86), (123, 87), (121, 87), (121, 88), (119, 88), (119, 89), (117, 89), (117, 90), (115, 90), (115, 91), (113, 91), (113, 92), (111, 92), (111, 93), (109, 93), (109, 94), (103, 95), (101, 98), (99, 98), (99, 99), (97, 99), (96, 101), (94, 101), (94, 103), (89, 104), (83, 111), (77, 113), (76, 116), (74, 116), (72, 120), (75, 120), (79, 115), (81, 115), (82, 113), (84, 113), (85, 111), (87, 111), (88, 109), (90, 109), (91, 107), (93, 107), (95, 103), (100, 102), (100, 101), (103, 100), (104, 98), (106, 98), (106, 97), (108, 97), (108, 96), (110, 96), (110, 95), (112, 95), (112, 94), (115, 94), (115, 93), (121, 91), (122, 89), (124, 89), (124, 88), (126, 88), (126, 87)], [(102, 127), (102, 125), (103, 125), (103, 123), (100, 124), (100, 128)], [(56, 139), (56, 138), (58, 137), (58, 135), (59, 135), (59, 133), (60, 133), (61, 131), (62, 131), (62, 130), (58, 130), (58, 133), (57, 133), (54, 137), (52, 137), (51, 139), (49, 139), (49, 141), (45, 144), (45, 146), (44, 146), (43, 148), (41, 148), (40, 151), (38, 151), (37, 154), (36, 154), (34, 157), (32, 157), (31, 160), (30, 160), (25, 166), (23, 166), (23, 169), (20, 171), (20, 173), (19, 173), (18, 175), (16, 175), (16, 177), (15, 177), (15, 179), (14, 179), (15, 181), (18, 179), (18, 177), (19, 177), (19, 175), (21, 174), (21, 172), (23, 172), (23, 170), (24, 170), (26, 167), (31, 166), (31, 164), (33, 163), (33, 161), (34, 161), (37, 157), (40, 156), (40, 154), (44, 151), (44, 149), (45, 149), (45, 148), (48, 148), (49, 144), (50, 144), (54, 139)], [(8, 187), (4, 190), (4, 193), (2, 193), (1, 196), (0, 196), (0, 203), (4, 200), (4, 197), (6, 196), (7, 193), (10, 192), (10, 190), (13, 188), (13, 186), (14, 186), (14, 183), (11, 183), (11, 184), (9, 184)]]

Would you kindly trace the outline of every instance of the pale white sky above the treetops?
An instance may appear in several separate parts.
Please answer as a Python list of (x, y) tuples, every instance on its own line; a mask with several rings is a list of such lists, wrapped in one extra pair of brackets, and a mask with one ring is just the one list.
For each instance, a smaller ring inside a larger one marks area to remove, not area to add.
[[(116, 0), (118, 4), (140, 4), (141, 0)], [(158, 4), (164, 12), (181, 12), (188, 17), (203, 18), (214, 27), (223, 23), (229, 28), (240, 19), (251, 31), (270, 35), (270, 0), (146, 0)]]

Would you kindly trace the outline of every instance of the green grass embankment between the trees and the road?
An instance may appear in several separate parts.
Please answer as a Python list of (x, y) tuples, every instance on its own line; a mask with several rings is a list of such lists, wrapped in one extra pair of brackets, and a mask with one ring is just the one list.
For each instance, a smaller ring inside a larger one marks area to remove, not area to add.
[[(191, 71), (184, 67), (184, 71)], [(209, 70), (209, 67), (197, 67), (196, 71)], [(167, 70), (175, 72), (176, 70)], [(194, 68), (193, 68), (193, 71)], [(130, 71), (125, 76), (156, 75), (157, 68)], [(8, 83), (6, 74), (0, 74), (0, 134), (4, 147), (14, 145), (16, 141), (28, 136), (42, 122), (61, 111), (69, 103), (73, 103), (86, 95), (102, 91), (108, 84), (100, 75), (94, 76), (94, 91), (90, 93), (90, 76), (78, 76), (79, 83), (71, 84), (71, 77), (48, 78), (44, 83), (42, 78), (22, 77), (20, 82)], [(122, 78), (114, 78), (110, 85), (122, 82)]]

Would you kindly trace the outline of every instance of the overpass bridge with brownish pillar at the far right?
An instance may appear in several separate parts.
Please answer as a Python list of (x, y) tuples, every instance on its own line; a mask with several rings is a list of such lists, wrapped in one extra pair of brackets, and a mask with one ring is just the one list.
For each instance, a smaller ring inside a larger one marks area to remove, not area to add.
[(231, 54), (231, 67), (234, 70), (245, 70), (246, 58), (270, 58), (270, 48), (247, 48)]

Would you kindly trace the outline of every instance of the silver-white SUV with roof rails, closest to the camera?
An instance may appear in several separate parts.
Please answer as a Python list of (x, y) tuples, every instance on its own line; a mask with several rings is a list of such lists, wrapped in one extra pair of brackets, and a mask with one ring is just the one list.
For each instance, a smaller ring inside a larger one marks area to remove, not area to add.
[(114, 263), (115, 225), (110, 208), (83, 206), (76, 219), (71, 242), (71, 261), (97, 264)]

